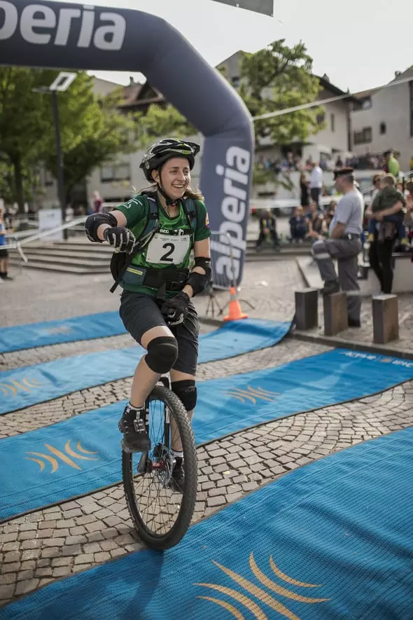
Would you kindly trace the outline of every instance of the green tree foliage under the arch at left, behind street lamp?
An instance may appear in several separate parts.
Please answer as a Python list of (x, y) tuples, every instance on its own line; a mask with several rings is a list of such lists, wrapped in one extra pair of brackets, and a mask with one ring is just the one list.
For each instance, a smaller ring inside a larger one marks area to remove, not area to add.
[[(34, 92), (48, 87), (57, 74), (50, 69), (0, 67), (0, 154), (13, 168), (13, 184), (5, 169), (1, 179), (20, 211), (29, 198), (27, 181), (34, 164), (43, 161), (57, 177), (51, 96)], [(117, 109), (122, 89), (97, 97), (93, 83), (79, 71), (71, 86), (57, 95), (66, 195), (95, 167), (136, 149), (134, 121)], [(3, 193), (7, 195), (4, 188)]]

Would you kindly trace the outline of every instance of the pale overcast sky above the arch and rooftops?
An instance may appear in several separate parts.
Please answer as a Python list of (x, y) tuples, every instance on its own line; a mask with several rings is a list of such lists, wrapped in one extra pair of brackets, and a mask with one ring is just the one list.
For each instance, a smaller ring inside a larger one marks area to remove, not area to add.
[[(159, 15), (213, 66), (240, 49), (255, 52), (276, 39), (286, 39), (289, 46), (301, 40), (314, 60), (314, 74), (327, 74), (332, 84), (350, 92), (384, 85), (395, 71), (413, 64), (412, 0), (394, 4), (388, 0), (274, 0), (272, 18), (213, 0), (97, 0), (94, 4)], [(129, 83), (130, 75), (143, 81), (141, 74), (130, 71), (93, 74), (123, 84)]]

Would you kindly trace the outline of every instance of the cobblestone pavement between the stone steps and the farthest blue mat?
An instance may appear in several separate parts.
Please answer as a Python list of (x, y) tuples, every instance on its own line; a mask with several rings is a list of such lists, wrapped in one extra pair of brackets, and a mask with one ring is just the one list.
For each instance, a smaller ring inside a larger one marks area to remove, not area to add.
[[(3, 286), (6, 291), (2, 289), (2, 326), (66, 319), (119, 308), (120, 289), (114, 294), (109, 292), (113, 283), (111, 275), (62, 276), (35, 270), (13, 275), (15, 280)], [(293, 309), (294, 288), (302, 287), (302, 282), (294, 260), (246, 263), (241, 297), (256, 306), (251, 312), (248, 308), (251, 316), (264, 317), (264, 312), (268, 317), (275, 312), (278, 314), (274, 319), (286, 320), (285, 310)], [(228, 291), (217, 293), (223, 303), (228, 303), (228, 297)], [(200, 315), (204, 315), (207, 298), (197, 296), (195, 305)]]

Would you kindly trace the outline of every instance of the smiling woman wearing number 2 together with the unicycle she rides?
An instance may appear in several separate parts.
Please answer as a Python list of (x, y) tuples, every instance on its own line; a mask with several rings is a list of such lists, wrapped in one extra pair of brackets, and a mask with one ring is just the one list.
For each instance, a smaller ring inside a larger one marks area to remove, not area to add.
[[(115, 249), (111, 269), (123, 288), (120, 317), (146, 349), (119, 430), (131, 516), (141, 538), (156, 549), (179, 542), (195, 507), (190, 420), (197, 401), (200, 328), (191, 298), (211, 278), (207, 209), (202, 195), (190, 188), (199, 151), (193, 142), (160, 140), (141, 162), (153, 186), (85, 223), (91, 241), (106, 241)], [(162, 377), (167, 373), (170, 390)]]

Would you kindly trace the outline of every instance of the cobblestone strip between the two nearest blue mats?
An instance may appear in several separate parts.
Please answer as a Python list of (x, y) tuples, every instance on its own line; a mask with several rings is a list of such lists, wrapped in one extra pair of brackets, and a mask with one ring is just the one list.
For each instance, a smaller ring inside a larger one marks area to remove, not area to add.
[[(413, 382), (276, 420), (198, 449), (194, 521), (288, 471), (413, 424)], [(54, 579), (142, 549), (120, 485), (0, 526), (0, 605)]]

